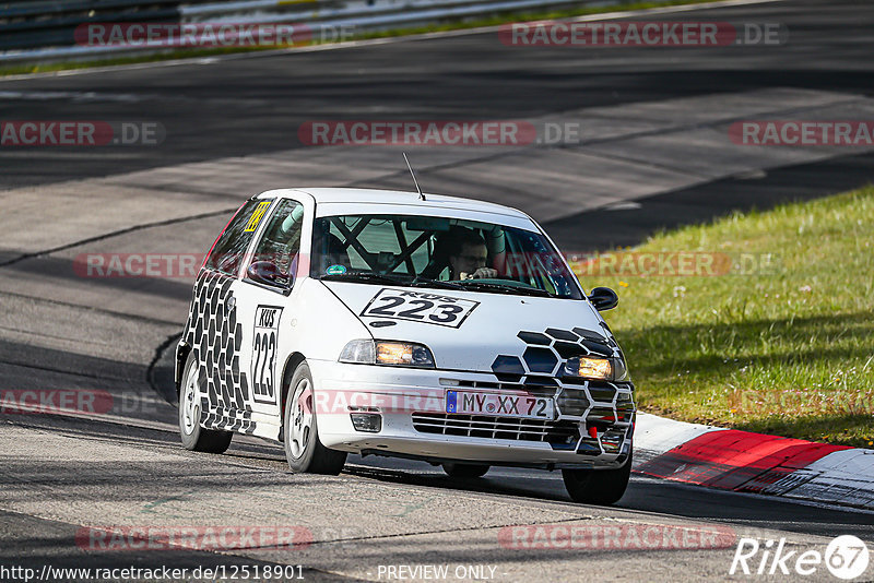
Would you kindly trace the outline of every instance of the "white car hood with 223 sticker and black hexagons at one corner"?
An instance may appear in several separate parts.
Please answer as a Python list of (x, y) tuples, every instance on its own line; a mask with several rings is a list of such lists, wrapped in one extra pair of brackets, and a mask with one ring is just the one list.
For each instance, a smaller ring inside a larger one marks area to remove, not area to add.
[[(584, 300), (322, 283), (362, 320), (375, 338), (424, 344), (434, 354), (438, 369), (548, 374), (557, 371), (557, 368), (547, 370), (551, 362), (557, 367), (563, 357), (574, 354), (572, 345), (581, 347), (577, 354), (619, 354), (606, 324)], [(404, 302), (391, 298), (403, 298)], [(428, 308), (428, 302), (435, 307)], [(456, 320), (433, 321), (446, 320), (456, 311)], [(555, 358), (551, 359), (547, 352)], [(519, 362), (520, 359), (523, 362)], [(524, 370), (520, 370), (519, 365)]]

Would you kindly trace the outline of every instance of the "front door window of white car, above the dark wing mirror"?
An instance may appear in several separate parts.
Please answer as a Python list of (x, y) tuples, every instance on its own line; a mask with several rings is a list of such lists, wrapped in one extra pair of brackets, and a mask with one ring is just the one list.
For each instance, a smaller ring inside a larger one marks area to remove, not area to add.
[(297, 271), (300, 235), (304, 227), (304, 205), (297, 201), (281, 201), (255, 246), (252, 262), (269, 261), (275, 265), (272, 282), (287, 287)]

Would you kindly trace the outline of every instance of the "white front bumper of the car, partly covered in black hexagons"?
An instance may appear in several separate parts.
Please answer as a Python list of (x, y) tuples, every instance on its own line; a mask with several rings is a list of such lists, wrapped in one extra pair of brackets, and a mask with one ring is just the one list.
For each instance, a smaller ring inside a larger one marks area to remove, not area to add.
[[(498, 382), (491, 373), (309, 360), (319, 438), (327, 448), (432, 462), (530, 467), (618, 467), (631, 452), (634, 386)], [(447, 414), (447, 390), (555, 398), (555, 419)], [(352, 413), (378, 413), (379, 432), (356, 431)]]

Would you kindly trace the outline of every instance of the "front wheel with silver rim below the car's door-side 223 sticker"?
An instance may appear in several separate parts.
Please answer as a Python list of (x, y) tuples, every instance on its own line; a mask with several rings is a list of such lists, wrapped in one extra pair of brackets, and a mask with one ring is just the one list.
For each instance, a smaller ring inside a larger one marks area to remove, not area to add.
[(329, 450), (319, 441), (312, 388), (309, 366), (302, 362), (294, 371), (285, 402), (285, 457), (295, 474), (336, 476), (346, 463), (346, 452)]

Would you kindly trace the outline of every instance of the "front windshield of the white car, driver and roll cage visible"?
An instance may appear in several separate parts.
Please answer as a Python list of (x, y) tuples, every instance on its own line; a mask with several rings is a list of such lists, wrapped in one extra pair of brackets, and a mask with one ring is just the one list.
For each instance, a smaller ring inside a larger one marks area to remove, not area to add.
[(375, 285), (582, 299), (576, 276), (543, 235), (462, 218), (317, 218), (310, 275)]

